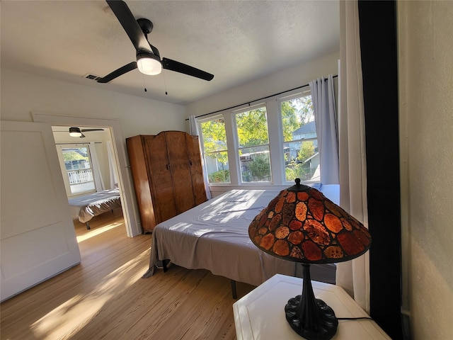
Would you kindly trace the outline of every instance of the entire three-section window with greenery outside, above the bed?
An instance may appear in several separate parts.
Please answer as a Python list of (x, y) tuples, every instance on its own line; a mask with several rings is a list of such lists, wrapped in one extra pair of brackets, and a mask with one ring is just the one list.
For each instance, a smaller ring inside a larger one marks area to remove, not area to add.
[(321, 181), (309, 89), (234, 108), (197, 120), (214, 192), (223, 192), (224, 188), (216, 188), (221, 186), (283, 187), (293, 185), (296, 178), (306, 185)]

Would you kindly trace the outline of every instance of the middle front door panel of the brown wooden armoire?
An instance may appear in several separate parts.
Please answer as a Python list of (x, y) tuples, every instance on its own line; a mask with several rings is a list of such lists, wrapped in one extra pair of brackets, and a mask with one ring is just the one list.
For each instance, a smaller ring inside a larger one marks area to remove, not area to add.
[(166, 131), (168, 159), (178, 214), (195, 207), (186, 133)]

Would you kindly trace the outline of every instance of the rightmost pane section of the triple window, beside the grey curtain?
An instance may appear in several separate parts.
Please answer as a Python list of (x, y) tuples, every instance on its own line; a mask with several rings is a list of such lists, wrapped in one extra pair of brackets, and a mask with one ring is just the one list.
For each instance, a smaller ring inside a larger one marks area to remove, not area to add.
[(285, 179), (319, 182), (319, 152), (311, 95), (280, 101)]

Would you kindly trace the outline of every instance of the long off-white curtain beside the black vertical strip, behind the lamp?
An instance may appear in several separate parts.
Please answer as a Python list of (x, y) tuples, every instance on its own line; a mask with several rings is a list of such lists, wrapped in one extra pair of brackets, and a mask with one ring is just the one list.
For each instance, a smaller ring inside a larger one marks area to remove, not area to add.
[[(368, 227), (365, 115), (357, 0), (340, 0), (340, 205)], [(337, 284), (369, 312), (369, 251), (338, 263)]]

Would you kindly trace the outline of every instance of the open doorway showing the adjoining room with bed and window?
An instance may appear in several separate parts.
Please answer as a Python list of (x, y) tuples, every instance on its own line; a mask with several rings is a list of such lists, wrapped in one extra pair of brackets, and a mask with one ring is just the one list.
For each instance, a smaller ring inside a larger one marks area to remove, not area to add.
[(122, 218), (119, 169), (110, 128), (52, 125), (52, 133), (76, 231), (83, 225), (87, 232), (96, 227), (91, 233), (96, 234), (103, 229), (102, 222), (110, 225), (111, 217), (116, 217), (116, 225), (124, 224), (124, 219), (118, 221)]

